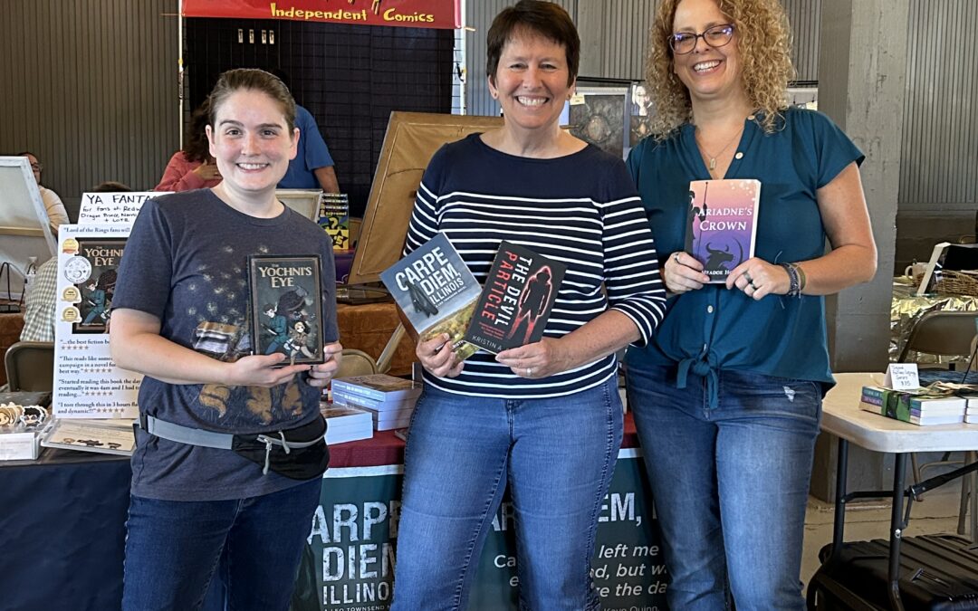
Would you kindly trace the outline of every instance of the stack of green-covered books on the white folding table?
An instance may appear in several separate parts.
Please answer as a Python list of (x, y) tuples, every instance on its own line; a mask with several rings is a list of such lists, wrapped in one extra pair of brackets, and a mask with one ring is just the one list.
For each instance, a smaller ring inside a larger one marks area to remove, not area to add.
[(911, 424), (959, 424), (964, 421), (967, 399), (926, 388), (916, 391), (864, 386), (860, 409)]

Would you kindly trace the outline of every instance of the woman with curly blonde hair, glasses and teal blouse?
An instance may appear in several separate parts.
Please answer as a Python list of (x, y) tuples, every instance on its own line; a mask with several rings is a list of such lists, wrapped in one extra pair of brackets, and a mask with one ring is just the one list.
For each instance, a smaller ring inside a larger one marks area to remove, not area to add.
[[(787, 107), (788, 31), (778, 0), (664, 0), (651, 28), (657, 117), (628, 166), (671, 295), (626, 363), (674, 610), (729, 596), (740, 611), (804, 609), (805, 504), (833, 384), (824, 295), (875, 273), (864, 156), (824, 115)], [(754, 256), (718, 249), (710, 271), (727, 278), (713, 284), (684, 251), (689, 223), (736, 206), (693, 209), (689, 183), (711, 179), (761, 183)]]

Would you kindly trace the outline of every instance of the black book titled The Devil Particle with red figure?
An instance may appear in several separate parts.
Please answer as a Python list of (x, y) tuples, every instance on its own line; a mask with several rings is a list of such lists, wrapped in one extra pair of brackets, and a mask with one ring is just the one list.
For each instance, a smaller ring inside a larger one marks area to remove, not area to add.
[(492, 353), (540, 341), (567, 266), (503, 241), (466, 340)]

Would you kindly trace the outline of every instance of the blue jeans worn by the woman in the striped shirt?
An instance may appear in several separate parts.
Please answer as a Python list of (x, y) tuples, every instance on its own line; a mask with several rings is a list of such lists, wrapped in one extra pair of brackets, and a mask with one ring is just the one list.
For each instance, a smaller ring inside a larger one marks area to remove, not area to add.
[(599, 609), (591, 557), (621, 446), (612, 377), (554, 399), (426, 387), (405, 451), (392, 611), (465, 609), (510, 485), (523, 609)]

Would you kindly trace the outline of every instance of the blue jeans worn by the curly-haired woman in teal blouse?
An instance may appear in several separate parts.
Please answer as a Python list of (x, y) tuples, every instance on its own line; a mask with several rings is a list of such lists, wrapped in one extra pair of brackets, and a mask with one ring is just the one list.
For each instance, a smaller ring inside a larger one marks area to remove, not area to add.
[(815, 438), (817, 382), (720, 371), (717, 408), (704, 378), (676, 368), (628, 371), (645, 466), (662, 530), (673, 611), (804, 609), (802, 537)]

